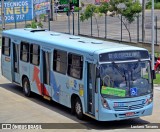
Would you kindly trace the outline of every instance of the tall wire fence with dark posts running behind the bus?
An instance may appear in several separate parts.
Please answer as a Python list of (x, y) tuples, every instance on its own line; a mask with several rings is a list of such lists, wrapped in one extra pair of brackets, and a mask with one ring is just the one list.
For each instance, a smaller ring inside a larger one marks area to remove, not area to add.
[[(160, 44), (160, 11), (155, 12), (155, 44)], [(27, 18), (27, 16), (25, 16)], [(43, 22), (43, 27), (51, 31), (64, 32), (75, 35), (86, 35), (103, 39), (130, 42), (129, 33), (124, 26), (121, 17), (96, 16), (84, 22), (80, 21), (79, 13), (54, 14), (54, 20)], [(27, 19), (25, 19), (27, 20)], [(6, 29), (24, 28), (30, 22), (22, 21), (6, 24)], [(144, 43), (151, 43), (151, 14), (147, 11), (145, 17)], [(142, 42), (142, 17), (137, 17), (132, 24), (127, 24), (131, 36), (131, 42)]]

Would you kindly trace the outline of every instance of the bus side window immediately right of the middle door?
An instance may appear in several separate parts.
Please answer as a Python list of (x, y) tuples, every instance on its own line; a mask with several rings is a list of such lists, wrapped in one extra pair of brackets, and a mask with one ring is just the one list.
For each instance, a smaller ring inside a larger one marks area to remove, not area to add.
[(67, 52), (62, 50), (54, 50), (53, 70), (66, 74), (67, 70)]

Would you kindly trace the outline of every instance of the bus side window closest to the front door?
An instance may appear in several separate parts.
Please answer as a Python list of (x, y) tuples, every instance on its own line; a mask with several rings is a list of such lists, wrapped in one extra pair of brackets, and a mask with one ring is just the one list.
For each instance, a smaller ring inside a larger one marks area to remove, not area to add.
[(82, 79), (83, 59), (82, 56), (68, 55), (68, 75), (77, 79)]

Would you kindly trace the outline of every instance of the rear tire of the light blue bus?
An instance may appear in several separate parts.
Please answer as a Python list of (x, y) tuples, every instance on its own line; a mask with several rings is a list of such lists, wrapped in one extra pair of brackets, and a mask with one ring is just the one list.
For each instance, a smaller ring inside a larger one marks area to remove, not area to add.
[(28, 78), (23, 79), (23, 93), (25, 96), (30, 97), (31, 96), (31, 88)]

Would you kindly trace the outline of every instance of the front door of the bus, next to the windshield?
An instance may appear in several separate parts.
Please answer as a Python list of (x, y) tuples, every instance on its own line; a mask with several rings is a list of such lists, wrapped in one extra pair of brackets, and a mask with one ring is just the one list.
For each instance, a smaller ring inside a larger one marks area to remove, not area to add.
[(98, 94), (96, 93), (96, 68), (95, 64), (87, 64), (87, 112), (96, 116), (98, 110)]

